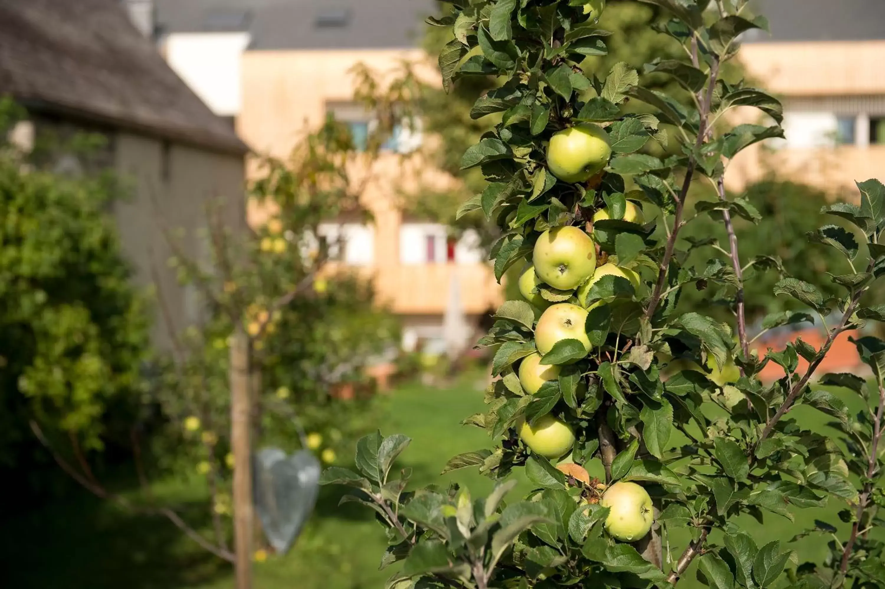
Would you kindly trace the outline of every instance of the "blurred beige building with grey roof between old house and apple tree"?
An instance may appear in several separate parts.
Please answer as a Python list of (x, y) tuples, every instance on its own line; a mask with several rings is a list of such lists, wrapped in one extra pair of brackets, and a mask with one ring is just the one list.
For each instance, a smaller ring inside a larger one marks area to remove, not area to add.
[[(355, 138), (365, 136), (373, 113), (353, 102), (350, 68), (358, 63), (387, 73), (405, 59), (439, 83), (418, 48), (432, 0), (156, 0), (156, 7), (158, 41), (170, 66), (214, 112), (235, 120), (258, 153), (286, 156), (304, 129), (329, 113), (347, 122)], [(473, 324), (502, 294), (476, 236), (455, 241), (445, 226), (402, 212), (395, 187), (453, 182), (433, 171), (418, 178), (400, 166), (398, 155), (423, 140), (414, 128), (387, 145), (364, 197), (372, 224), (341, 219), (321, 230), (343, 237), (343, 263), (373, 277), (381, 300), (402, 319), (404, 346), (421, 340), (442, 351), (453, 289)], [(260, 213), (251, 212), (250, 221), (260, 222)]]

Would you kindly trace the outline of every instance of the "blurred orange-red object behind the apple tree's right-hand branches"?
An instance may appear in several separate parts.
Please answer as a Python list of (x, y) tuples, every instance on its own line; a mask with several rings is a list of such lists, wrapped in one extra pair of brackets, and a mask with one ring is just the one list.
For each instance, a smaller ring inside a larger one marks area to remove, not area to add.
[[(758, 343), (754, 344), (752, 349), (757, 351), (759, 358), (765, 358), (769, 348), (774, 352), (781, 352), (788, 342), (795, 342), (799, 337), (801, 337), (802, 341), (806, 344), (813, 345), (815, 350), (820, 350), (820, 346), (824, 345), (824, 342), (827, 341), (827, 334), (820, 329), (803, 329), (781, 337), (763, 338), (758, 341)], [(820, 376), (827, 374), (827, 372), (850, 372), (859, 375), (864, 371), (865, 365), (860, 361), (858, 348), (848, 341), (849, 337), (857, 339), (860, 337), (860, 333), (854, 330), (845, 331), (839, 334), (839, 336), (835, 338), (832, 347), (830, 347), (827, 357), (820, 362), (820, 366), (814, 372), (812, 380), (820, 378)], [(807, 368), (808, 361), (804, 360), (802, 356), (799, 356), (799, 367), (797, 368), (799, 374), (804, 374), (804, 371)], [(778, 378), (783, 378), (783, 376), (783, 368), (774, 362), (768, 362), (766, 368), (763, 368), (762, 372), (759, 373), (759, 378), (766, 383), (773, 382)]]

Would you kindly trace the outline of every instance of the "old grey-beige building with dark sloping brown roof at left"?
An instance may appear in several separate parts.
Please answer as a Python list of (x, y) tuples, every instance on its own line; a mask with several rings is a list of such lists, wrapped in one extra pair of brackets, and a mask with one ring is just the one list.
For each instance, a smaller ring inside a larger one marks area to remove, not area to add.
[[(0, 95), (27, 109), (12, 133), (23, 148), (47, 136), (104, 137), (98, 151), (59, 147), (46, 163), (74, 174), (92, 167), (118, 173), (131, 190), (113, 210), (124, 252), (139, 283), (156, 283), (178, 330), (198, 319), (199, 301), (167, 267), (165, 233), (185, 229), (184, 253), (204, 255), (198, 229), (216, 200), (229, 226), (245, 227), (248, 148), (173, 73), (124, 8), (118, 0), (0, 0)], [(153, 335), (159, 346), (170, 345), (167, 322), (158, 319)]]

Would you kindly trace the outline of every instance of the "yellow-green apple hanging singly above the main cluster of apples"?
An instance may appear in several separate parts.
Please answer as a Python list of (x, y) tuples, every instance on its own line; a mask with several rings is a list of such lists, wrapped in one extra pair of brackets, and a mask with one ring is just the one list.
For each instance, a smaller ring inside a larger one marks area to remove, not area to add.
[(547, 146), (547, 167), (563, 182), (587, 182), (611, 157), (608, 133), (592, 123), (559, 131)]

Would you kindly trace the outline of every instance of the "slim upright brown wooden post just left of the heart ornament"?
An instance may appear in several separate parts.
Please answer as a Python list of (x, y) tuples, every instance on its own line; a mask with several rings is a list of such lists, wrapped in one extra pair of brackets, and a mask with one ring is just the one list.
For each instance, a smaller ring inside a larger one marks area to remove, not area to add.
[(234, 549), (236, 589), (252, 587), (252, 465), (249, 337), (237, 324), (230, 346), (230, 429), (234, 453)]

